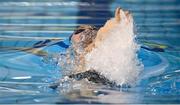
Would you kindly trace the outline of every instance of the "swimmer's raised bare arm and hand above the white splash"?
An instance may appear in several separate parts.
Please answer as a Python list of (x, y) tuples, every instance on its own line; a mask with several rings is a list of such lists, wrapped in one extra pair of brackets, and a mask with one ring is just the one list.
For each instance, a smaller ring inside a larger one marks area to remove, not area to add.
[[(119, 27), (119, 25), (122, 25), (122, 27)], [(133, 27), (132, 15), (129, 13), (129, 11), (124, 11), (121, 8), (117, 8), (114, 18), (108, 20), (105, 25), (99, 29), (97, 37), (94, 41), (94, 46), (98, 47), (104, 39), (111, 35), (110, 32), (113, 32), (113, 30), (116, 28), (118, 28), (118, 30), (123, 30), (129, 25)]]

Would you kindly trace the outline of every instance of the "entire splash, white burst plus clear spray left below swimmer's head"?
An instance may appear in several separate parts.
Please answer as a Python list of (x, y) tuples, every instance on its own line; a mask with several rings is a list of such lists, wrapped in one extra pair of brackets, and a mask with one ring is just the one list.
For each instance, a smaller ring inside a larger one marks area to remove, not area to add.
[(117, 21), (117, 15), (108, 21), (113, 26), (104, 33), (107, 37), (91, 52), (83, 54), (85, 63), (81, 63), (81, 58), (77, 55), (77, 52), (83, 51), (75, 50), (76, 54), (73, 53), (75, 44), (72, 44), (65, 56), (59, 59), (63, 71), (75, 73), (73, 71), (93, 69), (117, 85), (135, 85), (143, 65), (137, 58), (139, 45), (135, 41), (133, 18), (128, 18), (123, 11), (118, 16), (120, 21)]

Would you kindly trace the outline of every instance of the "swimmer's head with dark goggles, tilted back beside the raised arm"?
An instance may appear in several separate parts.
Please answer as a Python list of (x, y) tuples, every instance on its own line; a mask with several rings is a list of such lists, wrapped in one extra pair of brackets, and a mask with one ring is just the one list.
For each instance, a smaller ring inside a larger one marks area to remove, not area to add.
[(79, 26), (71, 35), (70, 40), (72, 44), (81, 45), (82, 48), (86, 48), (96, 38), (98, 29), (90, 25)]

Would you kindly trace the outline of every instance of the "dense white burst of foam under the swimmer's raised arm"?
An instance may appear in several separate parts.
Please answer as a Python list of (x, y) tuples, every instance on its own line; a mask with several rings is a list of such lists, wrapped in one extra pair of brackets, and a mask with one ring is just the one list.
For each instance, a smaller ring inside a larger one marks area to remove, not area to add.
[(86, 69), (97, 70), (118, 85), (135, 85), (143, 66), (137, 58), (133, 21), (121, 21), (107, 34), (108, 38), (86, 55)]

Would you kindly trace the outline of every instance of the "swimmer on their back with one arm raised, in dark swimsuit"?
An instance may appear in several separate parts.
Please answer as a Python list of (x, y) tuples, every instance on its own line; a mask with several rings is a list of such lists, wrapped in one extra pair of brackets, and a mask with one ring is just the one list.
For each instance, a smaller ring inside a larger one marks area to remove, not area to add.
[[(80, 58), (79, 62), (81, 62), (81, 68), (78, 68), (78, 72), (75, 74), (70, 75), (70, 78), (87, 78), (89, 81), (101, 82), (102, 84), (108, 84), (110, 86), (115, 84), (105, 78), (105, 76), (100, 75), (96, 70), (86, 70), (86, 68), (82, 66), (85, 66), (86, 63), (84, 58), (85, 55), (93, 51), (93, 49), (98, 48), (101, 43), (109, 37), (109, 35), (112, 35), (110, 32), (117, 29), (121, 21), (123, 21), (124, 26), (130, 26), (133, 28), (133, 18), (129, 11), (123, 11), (121, 8), (117, 8), (114, 18), (108, 20), (99, 30), (90, 25), (83, 25), (75, 30), (70, 39), (72, 41), (72, 46), (74, 46), (73, 48), (76, 55)], [(81, 49), (81, 51), (79, 51), (79, 49)]]

